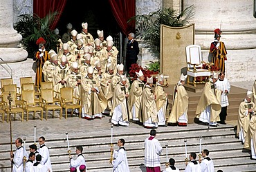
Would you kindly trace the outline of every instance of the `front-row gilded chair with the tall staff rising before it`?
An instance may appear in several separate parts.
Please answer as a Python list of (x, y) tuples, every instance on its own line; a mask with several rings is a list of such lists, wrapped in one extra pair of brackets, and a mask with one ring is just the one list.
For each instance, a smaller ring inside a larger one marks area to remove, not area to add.
[[(9, 105), (8, 96), (11, 96), (12, 98), (11, 105)], [(10, 107), (11, 107), (11, 110), (10, 110)], [(17, 107), (16, 105), (16, 92), (3, 92), (3, 110), (7, 114), (7, 122), (9, 121), (9, 113), (15, 114), (14, 120), (16, 118), (16, 114), (21, 113), (21, 121), (24, 120), (24, 109), (22, 107), (22, 104), (21, 104), (21, 107)], [(3, 116), (3, 121), (4, 121), (4, 116)]]

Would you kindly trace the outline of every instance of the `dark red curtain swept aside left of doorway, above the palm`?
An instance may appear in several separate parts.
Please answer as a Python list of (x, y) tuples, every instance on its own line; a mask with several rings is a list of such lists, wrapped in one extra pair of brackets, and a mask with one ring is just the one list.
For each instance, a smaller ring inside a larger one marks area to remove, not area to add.
[(49, 12), (58, 12), (55, 21), (53, 21), (53, 24), (50, 27), (51, 29), (55, 29), (62, 11), (66, 6), (66, 0), (34, 0), (33, 3), (34, 14), (37, 14), (40, 18), (45, 17)]

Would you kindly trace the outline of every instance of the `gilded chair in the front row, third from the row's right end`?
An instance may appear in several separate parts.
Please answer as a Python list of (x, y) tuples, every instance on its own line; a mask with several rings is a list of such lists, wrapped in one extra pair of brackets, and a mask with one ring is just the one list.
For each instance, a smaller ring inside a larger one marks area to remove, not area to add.
[[(41, 120), (43, 120), (43, 111), (44, 109), (41, 106), (36, 106), (35, 103), (35, 91), (34, 90), (23, 90), (21, 92), (21, 98), (24, 103), (24, 111), (27, 114), (27, 121), (28, 121), (28, 112), (33, 111), (33, 119), (35, 119), (35, 112), (41, 111)], [(39, 103), (41, 105), (41, 103)]]

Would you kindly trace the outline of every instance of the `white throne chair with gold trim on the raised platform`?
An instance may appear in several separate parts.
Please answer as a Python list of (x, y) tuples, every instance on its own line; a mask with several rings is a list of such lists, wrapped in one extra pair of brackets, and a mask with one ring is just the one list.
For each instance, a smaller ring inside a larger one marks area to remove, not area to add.
[[(187, 57), (187, 74), (188, 74), (188, 84), (194, 85), (196, 87), (197, 83), (205, 83), (205, 80), (196, 81), (196, 77), (206, 76), (210, 78), (210, 69), (203, 69), (201, 47), (199, 45), (188, 45), (185, 47), (186, 57)], [(190, 76), (193, 78), (190, 81)]]

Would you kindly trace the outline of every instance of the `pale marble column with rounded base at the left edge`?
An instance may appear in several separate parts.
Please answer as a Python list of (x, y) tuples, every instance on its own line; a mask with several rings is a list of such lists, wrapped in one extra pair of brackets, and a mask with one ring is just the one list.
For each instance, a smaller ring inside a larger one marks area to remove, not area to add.
[[(18, 47), (22, 36), (13, 28), (13, 1), (1, 0), (0, 3), (0, 77), (18, 80), (21, 70), (17, 65), (20, 61), (25, 61), (28, 53)], [(6, 63), (8, 65), (6, 65)], [(5, 69), (6, 68), (6, 69)], [(11, 69), (10, 69), (11, 68)], [(24, 66), (26, 70), (28, 66)], [(16, 73), (17, 72), (17, 73)], [(17, 76), (16, 76), (17, 74)]]

